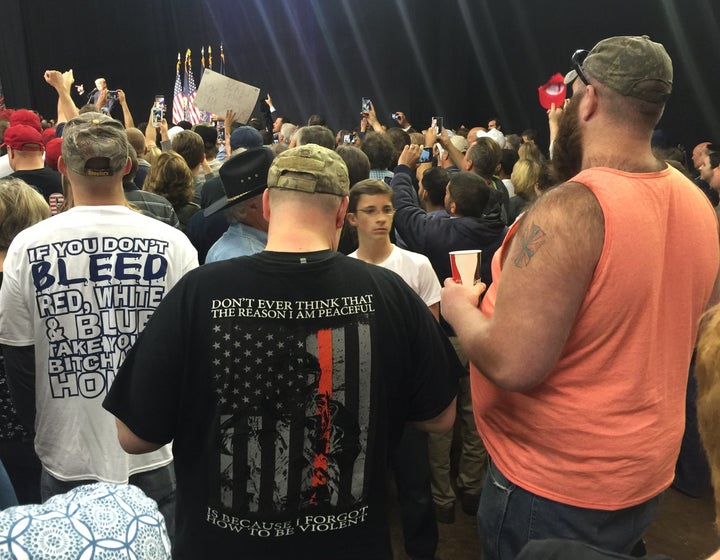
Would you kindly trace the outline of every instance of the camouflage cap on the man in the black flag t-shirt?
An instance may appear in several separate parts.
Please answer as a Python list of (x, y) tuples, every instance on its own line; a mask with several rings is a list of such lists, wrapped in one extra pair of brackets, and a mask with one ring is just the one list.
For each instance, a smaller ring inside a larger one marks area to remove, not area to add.
[(347, 196), (350, 180), (347, 166), (336, 152), (305, 144), (275, 158), (268, 173), (268, 188)]

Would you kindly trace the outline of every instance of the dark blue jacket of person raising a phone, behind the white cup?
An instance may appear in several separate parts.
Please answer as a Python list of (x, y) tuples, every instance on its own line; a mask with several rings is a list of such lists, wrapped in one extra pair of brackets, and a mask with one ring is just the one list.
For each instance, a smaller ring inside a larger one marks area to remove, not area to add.
[(490, 285), (490, 263), (507, 233), (505, 224), (482, 218), (428, 217), (420, 207), (412, 184), (410, 168), (398, 165), (390, 183), (395, 197), (395, 229), (410, 251), (422, 253), (432, 264), (442, 283), (452, 276), (450, 251), (480, 249), (482, 251), (482, 281)]

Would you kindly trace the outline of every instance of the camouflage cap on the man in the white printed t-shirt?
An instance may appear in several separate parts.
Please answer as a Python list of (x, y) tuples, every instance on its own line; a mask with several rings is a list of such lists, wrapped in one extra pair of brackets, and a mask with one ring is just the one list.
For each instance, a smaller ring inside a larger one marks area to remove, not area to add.
[(71, 171), (91, 177), (125, 167), (129, 142), (123, 125), (102, 113), (84, 113), (65, 125), (62, 156)]

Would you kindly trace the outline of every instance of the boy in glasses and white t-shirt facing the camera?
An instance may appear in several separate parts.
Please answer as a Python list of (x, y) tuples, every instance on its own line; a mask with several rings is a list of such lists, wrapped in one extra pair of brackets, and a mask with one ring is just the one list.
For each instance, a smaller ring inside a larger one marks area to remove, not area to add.
[[(349, 256), (397, 273), (439, 319), (440, 282), (425, 255), (390, 242), (395, 209), (385, 181), (366, 179), (350, 189), (347, 220), (357, 228), (358, 250)], [(410, 558), (434, 558), (438, 529), (430, 491), (427, 434), (407, 424), (391, 464), (398, 488), (405, 552)]]

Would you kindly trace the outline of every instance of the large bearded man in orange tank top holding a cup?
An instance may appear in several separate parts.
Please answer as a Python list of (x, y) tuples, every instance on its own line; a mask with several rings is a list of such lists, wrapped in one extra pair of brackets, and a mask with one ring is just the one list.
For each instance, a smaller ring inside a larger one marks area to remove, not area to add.
[(642, 545), (673, 479), (698, 322), (717, 301), (714, 212), (650, 148), (672, 89), (664, 47), (612, 37), (572, 62), (553, 157), (565, 182), (510, 229), (479, 309), (485, 286), (443, 289), (492, 459), (486, 560), (534, 539)]

